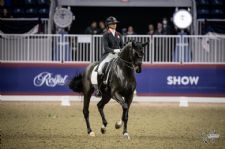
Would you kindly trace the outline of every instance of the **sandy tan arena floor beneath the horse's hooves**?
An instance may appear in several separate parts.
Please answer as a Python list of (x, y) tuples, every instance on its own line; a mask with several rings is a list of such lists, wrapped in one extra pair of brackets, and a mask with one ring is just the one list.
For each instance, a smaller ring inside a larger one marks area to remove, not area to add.
[[(83, 103), (80, 97), (72, 98), (78, 99), (70, 102), (70, 106), (62, 106), (60, 101), (0, 101), (0, 148), (222, 149), (225, 146), (224, 103), (189, 102), (188, 107), (180, 107), (179, 102), (135, 100), (128, 122), (131, 140), (127, 140), (122, 136), (122, 129), (114, 128), (122, 112), (118, 103), (112, 101), (105, 107), (109, 124), (103, 135), (96, 106), (98, 99), (91, 102), (90, 122), (96, 136), (90, 137), (86, 133)], [(178, 97), (174, 99), (179, 101)], [(220, 135), (219, 139), (204, 143), (202, 134), (212, 130)]]

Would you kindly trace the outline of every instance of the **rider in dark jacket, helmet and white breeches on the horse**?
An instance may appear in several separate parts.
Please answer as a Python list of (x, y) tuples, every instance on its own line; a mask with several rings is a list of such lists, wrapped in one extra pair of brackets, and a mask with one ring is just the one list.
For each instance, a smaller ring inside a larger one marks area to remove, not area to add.
[[(119, 21), (113, 16), (108, 17), (105, 21), (107, 27), (107, 31), (103, 34), (103, 46), (105, 51), (98, 66), (98, 75), (100, 78), (102, 78), (102, 69), (105, 63), (110, 62), (113, 58), (116, 58), (123, 46), (121, 34), (116, 31), (118, 23)], [(97, 89), (97, 95), (99, 94), (99, 89)]]

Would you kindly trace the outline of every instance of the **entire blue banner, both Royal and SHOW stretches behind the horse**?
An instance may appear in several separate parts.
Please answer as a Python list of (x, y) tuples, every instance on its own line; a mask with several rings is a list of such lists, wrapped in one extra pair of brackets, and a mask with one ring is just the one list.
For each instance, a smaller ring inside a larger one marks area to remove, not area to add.
[[(1, 94), (71, 95), (68, 81), (87, 64), (0, 64)], [(138, 95), (225, 97), (224, 65), (143, 65)]]

